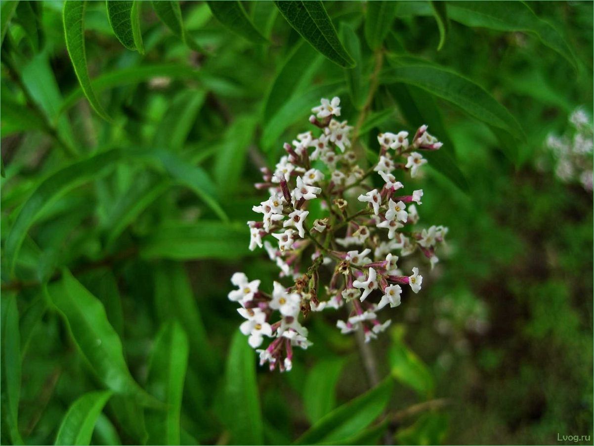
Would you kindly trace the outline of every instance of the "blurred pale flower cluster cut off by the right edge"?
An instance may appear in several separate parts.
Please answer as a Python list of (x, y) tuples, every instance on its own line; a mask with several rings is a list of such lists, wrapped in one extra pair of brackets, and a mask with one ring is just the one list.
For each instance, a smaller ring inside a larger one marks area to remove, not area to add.
[[(555, 175), (564, 183), (579, 181), (582, 187), (592, 192), (592, 150), (594, 147), (592, 121), (582, 109), (576, 109), (569, 117), (571, 130), (562, 137), (550, 134), (546, 147), (555, 159)], [(539, 160), (541, 167), (544, 160)]]

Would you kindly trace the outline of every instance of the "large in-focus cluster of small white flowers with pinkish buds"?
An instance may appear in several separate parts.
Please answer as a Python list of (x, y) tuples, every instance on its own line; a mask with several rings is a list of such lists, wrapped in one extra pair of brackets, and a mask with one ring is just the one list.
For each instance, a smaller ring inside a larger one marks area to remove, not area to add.
[(365, 169), (351, 141), (353, 128), (334, 119), (340, 99), (322, 99), (312, 112), (309, 122), (321, 131), (285, 143), (286, 155), (274, 170), (261, 169), (263, 182), (255, 185), (269, 196), (253, 207), (259, 218), (248, 222), (249, 249), (264, 247), (280, 269), (279, 281), (268, 292), (241, 272), (231, 279), (238, 289), (229, 299), (241, 305), (246, 321), (240, 329), (249, 345), (258, 348), (271, 339), (257, 350), (261, 365), (268, 362), (271, 370), (290, 370), (293, 347), (311, 345), (299, 322), (309, 312), (347, 306), (348, 317), (337, 328), (345, 334), (361, 330), (365, 341), (377, 337), (391, 322), (380, 322), (380, 310), (399, 306), (403, 287), (421, 290), (419, 267), (404, 274), (399, 259), (420, 252), (433, 267), (435, 248), (447, 233), (435, 225), (413, 229), (423, 191), (403, 193), (396, 176), (415, 177), (427, 162), (421, 151), (440, 149), (426, 125), (412, 137), (406, 131), (378, 135), (377, 162)]

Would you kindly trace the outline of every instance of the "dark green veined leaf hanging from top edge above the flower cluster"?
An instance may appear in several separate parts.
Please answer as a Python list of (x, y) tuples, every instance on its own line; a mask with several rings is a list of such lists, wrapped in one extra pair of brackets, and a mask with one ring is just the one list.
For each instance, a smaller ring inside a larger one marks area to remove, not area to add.
[(321, 54), (341, 67), (355, 66), (320, 0), (274, 0), (274, 4), (290, 26)]

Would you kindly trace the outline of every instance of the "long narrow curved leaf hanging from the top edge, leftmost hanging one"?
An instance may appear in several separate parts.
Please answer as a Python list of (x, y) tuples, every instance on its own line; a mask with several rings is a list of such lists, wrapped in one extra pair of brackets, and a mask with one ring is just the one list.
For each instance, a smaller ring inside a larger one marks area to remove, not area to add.
[(87, 69), (87, 55), (84, 48), (84, 11), (86, 7), (86, 1), (67, 0), (64, 2), (63, 18), (66, 48), (84, 95), (89, 99), (89, 103), (100, 117), (111, 121), (111, 117), (103, 109), (95, 95), (91, 86), (89, 70)]

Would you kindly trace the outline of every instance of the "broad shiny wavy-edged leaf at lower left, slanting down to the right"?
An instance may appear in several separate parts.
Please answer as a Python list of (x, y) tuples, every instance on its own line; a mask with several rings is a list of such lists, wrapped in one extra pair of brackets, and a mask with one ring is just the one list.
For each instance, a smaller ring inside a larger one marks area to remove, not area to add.
[(64, 315), (78, 350), (103, 384), (118, 394), (134, 397), (138, 403), (159, 405), (130, 375), (122, 342), (99, 299), (68, 270), (64, 270), (60, 282), (50, 285), (49, 293)]

